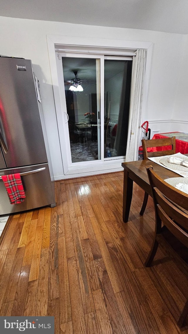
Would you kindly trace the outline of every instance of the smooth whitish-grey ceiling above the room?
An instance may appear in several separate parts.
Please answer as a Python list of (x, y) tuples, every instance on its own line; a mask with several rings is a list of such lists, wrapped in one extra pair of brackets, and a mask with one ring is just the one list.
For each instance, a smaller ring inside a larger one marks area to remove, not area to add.
[(0, 15), (188, 34), (188, 0), (0, 0)]

